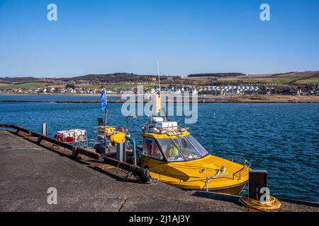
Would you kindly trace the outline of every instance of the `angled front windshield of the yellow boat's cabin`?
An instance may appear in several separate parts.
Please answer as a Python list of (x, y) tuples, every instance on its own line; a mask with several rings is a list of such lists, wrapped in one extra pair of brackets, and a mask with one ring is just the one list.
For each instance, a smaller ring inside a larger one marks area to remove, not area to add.
[(191, 135), (172, 139), (157, 139), (170, 162), (196, 160), (208, 152)]

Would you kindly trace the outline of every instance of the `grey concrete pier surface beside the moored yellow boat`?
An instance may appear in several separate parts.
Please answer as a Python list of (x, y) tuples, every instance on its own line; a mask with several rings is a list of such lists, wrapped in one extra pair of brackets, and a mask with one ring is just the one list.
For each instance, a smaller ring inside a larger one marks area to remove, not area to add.
[[(57, 189), (56, 205), (47, 203), (50, 187)], [(0, 130), (0, 211), (248, 211), (238, 199), (123, 181), (115, 167)], [(279, 211), (319, 210), (318, 203), (281, 203)]]

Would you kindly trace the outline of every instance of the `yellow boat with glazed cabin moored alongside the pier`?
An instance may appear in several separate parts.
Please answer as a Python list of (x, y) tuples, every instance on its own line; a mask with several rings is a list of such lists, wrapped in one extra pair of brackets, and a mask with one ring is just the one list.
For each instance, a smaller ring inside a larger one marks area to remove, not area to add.
[(248, 182), (250, 163), (237, 157), (210, 155), (176, 121), (150, 117), (142, 128), (139, 165), (152, 179), (181, 189), (240, 194)]

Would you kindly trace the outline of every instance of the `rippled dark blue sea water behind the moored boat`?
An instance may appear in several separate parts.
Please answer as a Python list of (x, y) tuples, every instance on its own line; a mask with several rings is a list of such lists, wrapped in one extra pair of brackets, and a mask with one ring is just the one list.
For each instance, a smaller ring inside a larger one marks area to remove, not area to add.
[[(5, 98), (9, 97), (0, 96), (0, 100)], [(57, 98), (83, 101), (89, 97)], [(103, 117), (99, 104), (57, 104), (52, 96), (32, 100), (52, 102), (0, 102), (0, 124), (40, 132), (40, 125), (46, 122), (49, 136), (62, 129), (86, 129), (89, 138), (94, 138), (96, 118)], [(121, 107), (108, 104), (109, 125), (127, 126)], [(138, 141), (144, 122), (145, 117), (128, 121)], [(319, 201), (319, 104), (199, 104), (198, 122), (186, 126), (213, 155), (242, 157), (254, 169), (267, 169), (272, 195)]]

